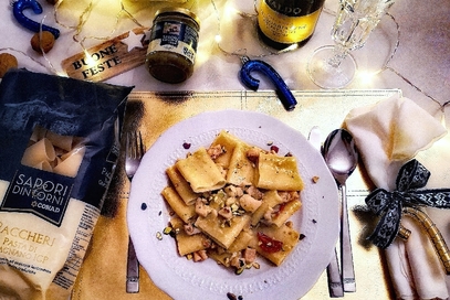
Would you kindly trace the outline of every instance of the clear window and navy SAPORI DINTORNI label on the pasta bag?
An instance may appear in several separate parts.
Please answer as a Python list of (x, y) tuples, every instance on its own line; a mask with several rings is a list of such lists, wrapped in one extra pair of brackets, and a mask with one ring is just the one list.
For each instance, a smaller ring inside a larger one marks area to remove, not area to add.
[(85, 153), (84, 143), (82, 138), (36, 126), (0, 211), (32, 213), (61, 226)]

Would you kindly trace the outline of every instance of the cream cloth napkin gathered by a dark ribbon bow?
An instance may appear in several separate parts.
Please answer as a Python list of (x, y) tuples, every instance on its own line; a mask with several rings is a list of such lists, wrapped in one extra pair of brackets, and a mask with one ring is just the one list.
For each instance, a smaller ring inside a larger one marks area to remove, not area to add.
[[(355, 138), (369, 178), (387, 191), (395, 189), (405, 162), (447, 132), (412, 100), (397, 96), (352, 110), (345, 126)], [(428, 236), (409, 217), (402, 217), (401, 224), (411, 231), (408, 242), (396, 238), (385, 251), (397, 298), (447, 299), (444, 270)]]

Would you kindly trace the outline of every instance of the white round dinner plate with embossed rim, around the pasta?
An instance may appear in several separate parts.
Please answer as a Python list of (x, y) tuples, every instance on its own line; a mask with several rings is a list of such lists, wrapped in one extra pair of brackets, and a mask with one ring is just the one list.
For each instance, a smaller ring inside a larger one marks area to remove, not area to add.
[[(168, 184), (165, 170), (200, 146), (209, 146), (222, 130), (245, 142), (296, 159), (305, 189), (303, 206), (291, 219), (304, 238), (285, 261), (275, 267), (259, 258), (260, 269), (241, 275), (212, 259), (193, 262), (179, 257), (176, 242), (163, 234), (170, 218), (160, 192)], [(185, 149), (190, 144), (189, 149)], [(313, 178), (318, 176), (316, 183)], [(299, 299), (322, 275), (338, 237), (338, 193), (321, 154), (293, 128), (259, 113), (224, 110), (205, 113), (165, 131), (145, 154), (135, 174), (128, 202), (127, 222), (137, 257), (153, 281), (176, 300), (228, 299), (227, 293), (251, 299)]]

